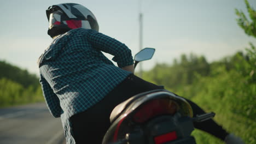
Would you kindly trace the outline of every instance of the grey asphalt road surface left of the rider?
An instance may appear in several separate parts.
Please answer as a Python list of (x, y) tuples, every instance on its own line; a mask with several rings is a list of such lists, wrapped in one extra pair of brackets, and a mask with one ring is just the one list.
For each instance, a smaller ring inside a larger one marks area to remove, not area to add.
[(1, 144), (63, 144), (60, 118), (50, 115), (45, 103), (0, 109)]

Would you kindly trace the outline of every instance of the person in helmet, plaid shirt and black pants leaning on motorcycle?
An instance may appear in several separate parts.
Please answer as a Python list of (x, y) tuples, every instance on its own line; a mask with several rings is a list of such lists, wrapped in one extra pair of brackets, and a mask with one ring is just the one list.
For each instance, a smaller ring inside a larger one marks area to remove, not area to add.
[[(83, 5), (52, 5), (46, 15), (53, 42), (39, 57), (38, 65), (49, 111), (54, 117), (61, 117), (67, 143), (101, 143), (115, 106), (133, 95), (160, 87), (133, 74), (131, 50), (99, 33), (96, 17)], [(118, 67), (101, 51), (113, 55)], [(205, 113), (188, 102), (194, 115)], [(242, 143), (212, 119), (194, 125), (226, 143)]]

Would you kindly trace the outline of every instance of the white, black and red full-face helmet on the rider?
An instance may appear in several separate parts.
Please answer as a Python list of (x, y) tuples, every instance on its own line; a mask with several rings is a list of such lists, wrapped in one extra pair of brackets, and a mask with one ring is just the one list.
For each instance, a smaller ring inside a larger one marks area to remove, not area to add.
[(49, 21), (48, 34), (51, 37), (63, 34), (71, 29), (86, 28), (98, 31), (98, 22), (94, 14), (83, 5), (62, 3), (52, 5), (46, 10)]

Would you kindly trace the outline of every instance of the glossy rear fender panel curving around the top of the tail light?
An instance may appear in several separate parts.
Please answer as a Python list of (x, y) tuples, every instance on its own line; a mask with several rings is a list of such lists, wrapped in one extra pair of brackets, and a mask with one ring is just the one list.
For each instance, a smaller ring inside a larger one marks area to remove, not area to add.
[(178, 112), (182, 116), (193, 116), (193, 111), (189, 103), (174, 93), (163, 89), (141, 93), (131, 97), (114, 108), (110, 115), (110, 122), (112, 125), (104, 136), (103, 143), (115, 142), (117, 140), (124, 139), (125, 135), (130, 133), (136, 125), (131, 118), (133, 113), (144, 103), (147, 103), (150, 100), (162, 98), (176, 101), (179, 106)]

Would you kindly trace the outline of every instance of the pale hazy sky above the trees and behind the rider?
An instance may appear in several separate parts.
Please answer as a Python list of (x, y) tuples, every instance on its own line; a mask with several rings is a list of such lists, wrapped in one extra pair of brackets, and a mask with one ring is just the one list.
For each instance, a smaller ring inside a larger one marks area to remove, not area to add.
[[(37, 75), (37, 59), (52, 41), (47, 34), (45, 10), (60, 3), (79, 3), (90, 9), (100, 32), (127, 45), (133, 56), (139, 51), (141, 12), (142, 45), (156, 49), (152, 59), (142, 62), (143, 70), (156, 63), (171, 64), (183, 53), (217, 61), (244, 51), (249, 42), (256, 44), (256, 39), (246, 35), (236, 22), (236, 8), (248, 16), (243, 0), (0, 1), (0, 61)], [(256, 9), (256, 1), (248, 1)]]

